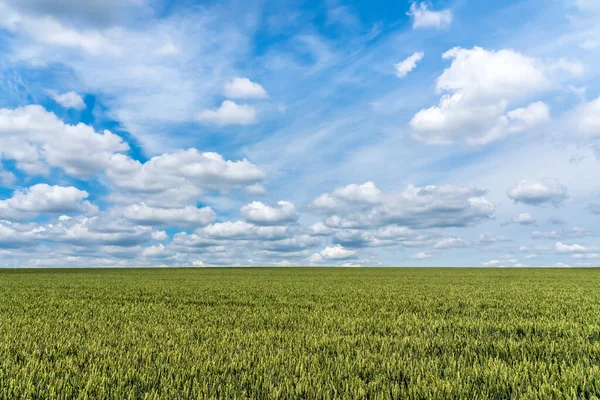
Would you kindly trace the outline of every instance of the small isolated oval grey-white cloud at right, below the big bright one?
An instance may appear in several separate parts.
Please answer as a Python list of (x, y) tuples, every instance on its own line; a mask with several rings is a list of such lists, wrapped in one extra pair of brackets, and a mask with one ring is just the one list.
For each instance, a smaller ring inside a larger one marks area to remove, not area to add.
[(509, 187), (506, 194), (515, 203), (533, 206), (558, 206), (568, 197), (567, 188), (554, 178), (524, 179)]

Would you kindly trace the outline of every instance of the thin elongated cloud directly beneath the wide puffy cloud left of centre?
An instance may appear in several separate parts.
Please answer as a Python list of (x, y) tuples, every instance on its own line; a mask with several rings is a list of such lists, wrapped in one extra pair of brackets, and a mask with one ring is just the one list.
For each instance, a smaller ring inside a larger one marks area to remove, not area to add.
[(130, 205), (124, 210), (123, 215), (140, 225), (201, 227), (217, 219), (217, 214), (210, 207), (153, 208), (144, 203)]

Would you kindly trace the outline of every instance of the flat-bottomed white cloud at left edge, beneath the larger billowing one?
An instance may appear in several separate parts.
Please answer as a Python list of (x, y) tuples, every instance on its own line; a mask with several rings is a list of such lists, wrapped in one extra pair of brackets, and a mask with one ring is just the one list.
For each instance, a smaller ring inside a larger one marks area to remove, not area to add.
[(73, 186), (49, 186), (40, 183), (23, 191), (16, 191), (6, 200), (0, 200), (0, 217), (7, 219), (31, 218), (44, 213), (71, 213), (94, 211), (85, 199), (88, 193)]

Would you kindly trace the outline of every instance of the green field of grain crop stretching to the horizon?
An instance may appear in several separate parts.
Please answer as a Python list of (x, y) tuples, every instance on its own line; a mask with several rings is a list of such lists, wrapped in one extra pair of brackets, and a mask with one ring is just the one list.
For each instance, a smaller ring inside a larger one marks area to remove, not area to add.
[(600, 270), (0, 271), (1, 398), (593, 398)]

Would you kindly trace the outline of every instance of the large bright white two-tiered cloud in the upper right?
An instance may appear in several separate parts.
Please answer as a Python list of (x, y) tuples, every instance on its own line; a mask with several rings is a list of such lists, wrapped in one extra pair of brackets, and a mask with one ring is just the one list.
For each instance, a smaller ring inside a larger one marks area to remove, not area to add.
[(545, 103), (509, 107), (578, 74), (568, 61), (545, 63), (510, 49), (456, 47), (443, 57), (452, 64), (437, 79), (439, 104), (410, 121), (414, 138), (427, 144), (484, 145), (547, 123)]

